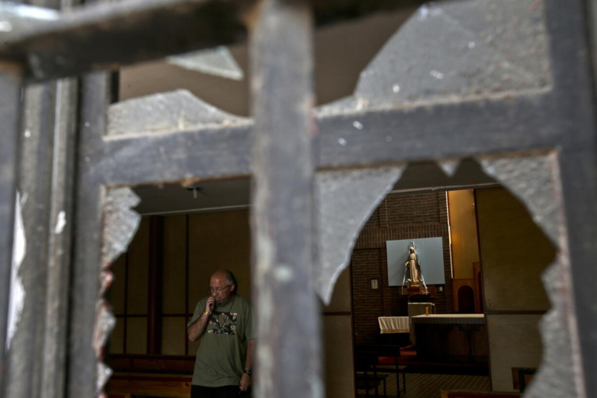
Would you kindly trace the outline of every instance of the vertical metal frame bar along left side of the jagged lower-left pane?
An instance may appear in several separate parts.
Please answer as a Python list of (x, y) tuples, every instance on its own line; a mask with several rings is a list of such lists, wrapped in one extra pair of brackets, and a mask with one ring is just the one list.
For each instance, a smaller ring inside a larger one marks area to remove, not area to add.
[(82, 78), (78, 164), (75, 179), (75, 226), (71, 284), (67, 397), (94, 397), (100, 392), (94, 350), (101, 267), (103, 187), (94, 178), (94, 149), (106, 130), (109, 81), (104, 73)]

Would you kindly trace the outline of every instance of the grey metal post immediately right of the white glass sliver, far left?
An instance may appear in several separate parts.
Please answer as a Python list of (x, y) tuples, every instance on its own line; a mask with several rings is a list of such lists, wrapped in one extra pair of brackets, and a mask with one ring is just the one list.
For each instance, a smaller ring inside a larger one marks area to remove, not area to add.
[[(19, 322), (7, 356), (7, 396), (38, 397), (44, 349), (56, 82), (24, 89), (23, 139), (17, 189), (26, 249), (17, 278), (23, 288)], [(23, 378), (22, 375), (29, 375)]]

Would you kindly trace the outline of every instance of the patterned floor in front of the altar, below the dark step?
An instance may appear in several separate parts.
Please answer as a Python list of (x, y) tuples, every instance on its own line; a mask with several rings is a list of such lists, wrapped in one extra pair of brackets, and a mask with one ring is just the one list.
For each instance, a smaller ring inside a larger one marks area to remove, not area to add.
[[(400, 398), (439, 398), (441, 390), (471, 390), (489, 391), (491, 389), (489, 376), (470, 375), (435, 375), (427, 373), (406, 373), (407, 392), (401, 393)], [(400, 378), (402, 387), (402, 376)], [(387, 397), (398, 396), (396, 375), (389, 375), (386, 379)], [(358, 398), (365, 397), (364, 390), (359, 390)], [(379, 397), (383, 398), (383, 387), (378, 388)], [(369, 397), (375, 397), (375, 390), (369, 392)]]

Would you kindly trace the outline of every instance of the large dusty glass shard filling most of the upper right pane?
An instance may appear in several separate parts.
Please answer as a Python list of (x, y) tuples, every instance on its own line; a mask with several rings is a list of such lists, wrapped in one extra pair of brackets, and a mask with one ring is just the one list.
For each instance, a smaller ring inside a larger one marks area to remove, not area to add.
[(361, 72), (353, 96), (320, 114), (417, 106), (549, 87), (543, 2), (437, 2), (419, 8)]

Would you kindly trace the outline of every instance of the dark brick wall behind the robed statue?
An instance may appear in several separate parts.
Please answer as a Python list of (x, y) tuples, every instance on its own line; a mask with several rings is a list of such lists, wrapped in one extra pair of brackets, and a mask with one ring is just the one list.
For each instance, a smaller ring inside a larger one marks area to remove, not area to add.
[[(379, 316), (406, 316), (407, 299), (399, 297), (399, 286), (387, 284), (386, 241), (444, 238), (444, 290), (435, 298), (411, 301), (434, 302), (438, 313), (452, 312), (448, 204), (445, 192), (390, 195), (375, 210), (359, 235), (352, 253), (353, 310), (355, 341), (376, 342)], [(380, 289), (370, 289), (370, 279), (378, 278)]]

